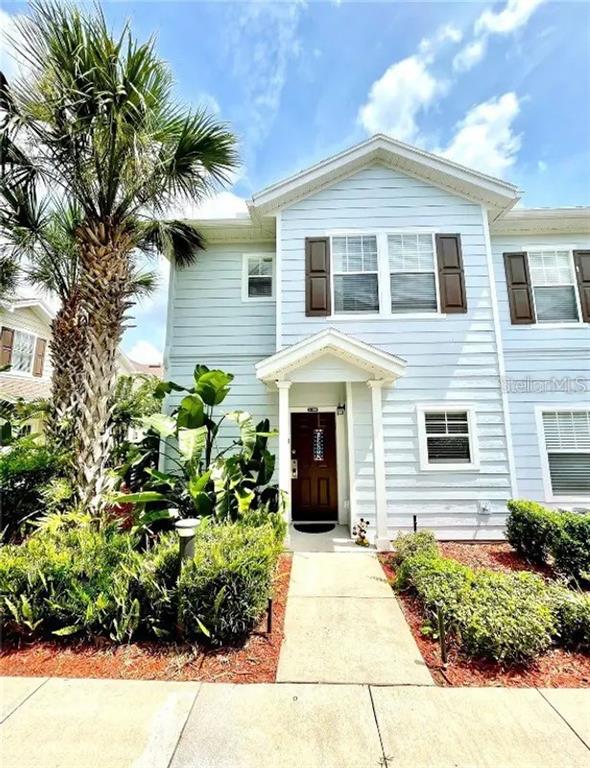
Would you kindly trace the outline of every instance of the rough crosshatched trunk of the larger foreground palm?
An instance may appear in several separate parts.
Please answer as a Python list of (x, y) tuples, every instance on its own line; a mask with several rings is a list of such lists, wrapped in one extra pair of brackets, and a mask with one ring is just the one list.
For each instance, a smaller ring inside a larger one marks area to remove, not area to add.
[(81, 307), (86, 355), (79, 383), (76, 427), (78, 492), (83, 504), (98, 510), (106, 488), (113, 447), (112, 396), (117, 349), (129, 298), (131, 238), (102, 222), (80, 228)]

